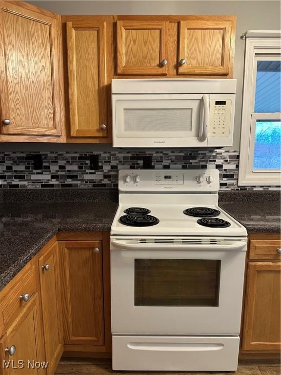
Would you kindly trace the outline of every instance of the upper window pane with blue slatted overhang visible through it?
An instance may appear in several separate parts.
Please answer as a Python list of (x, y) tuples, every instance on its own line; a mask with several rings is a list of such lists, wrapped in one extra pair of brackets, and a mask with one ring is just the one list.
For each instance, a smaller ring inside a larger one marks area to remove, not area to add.
[(279, 60), (257, 62), (254, 112), (281, 111), (281, 68)]

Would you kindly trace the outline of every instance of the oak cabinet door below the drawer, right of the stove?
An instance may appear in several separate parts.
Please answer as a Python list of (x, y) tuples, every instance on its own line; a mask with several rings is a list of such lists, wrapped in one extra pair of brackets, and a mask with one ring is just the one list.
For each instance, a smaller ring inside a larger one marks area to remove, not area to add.
[(280, 266), (248, 264), (243, 350), (280, 350)]

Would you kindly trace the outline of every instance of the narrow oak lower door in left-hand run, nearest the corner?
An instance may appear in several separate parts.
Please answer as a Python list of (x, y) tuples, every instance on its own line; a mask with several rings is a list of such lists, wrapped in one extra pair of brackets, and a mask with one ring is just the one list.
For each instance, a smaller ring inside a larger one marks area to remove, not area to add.
[(58, 244), (39, 259), (40, 290), (47, 374), (53, 374), (63, 351), (61, 332), (61, 297)]

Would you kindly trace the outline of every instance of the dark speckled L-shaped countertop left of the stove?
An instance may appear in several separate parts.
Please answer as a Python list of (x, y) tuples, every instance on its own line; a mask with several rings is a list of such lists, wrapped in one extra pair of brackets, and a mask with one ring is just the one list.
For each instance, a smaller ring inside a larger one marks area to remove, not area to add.
[[(17, 194), (17, 193), (16, 193)], [(79, 192), (67, 201), (42, 192), (39, 203), (29, 194), (7, 196), (0, 210), (0, 290), (58, 231), (109, 231), (116, 209), (115, 191)], [(28, 202), (28, 203), (26, 203)], [(46, 202), (46, 203), (42, 203)]]

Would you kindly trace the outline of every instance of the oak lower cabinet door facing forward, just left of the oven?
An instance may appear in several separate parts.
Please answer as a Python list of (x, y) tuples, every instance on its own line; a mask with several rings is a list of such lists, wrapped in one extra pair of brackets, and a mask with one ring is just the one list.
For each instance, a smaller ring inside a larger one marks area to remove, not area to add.
[(62, 243), (64, 343), (103, 345), (101, 241)]

